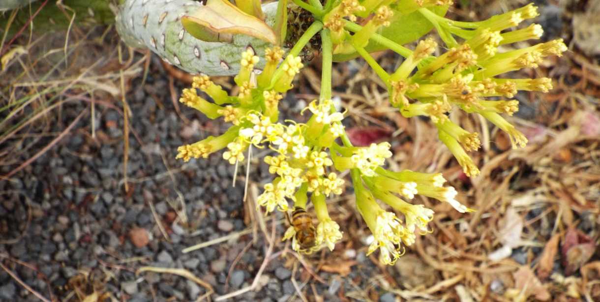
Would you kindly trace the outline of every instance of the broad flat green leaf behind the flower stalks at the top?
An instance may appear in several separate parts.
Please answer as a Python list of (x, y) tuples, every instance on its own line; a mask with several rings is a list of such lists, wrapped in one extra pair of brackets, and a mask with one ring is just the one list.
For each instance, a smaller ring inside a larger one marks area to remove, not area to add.
[[(403, 45), (418, 40), (418, 38), (423, 37), (433, 29), (433, 24), (425, 19), (421, 13), (416, 11), (419, 7), (416, 6), (415, 1), (401, 0), (391, 8), (394, 11), (394, 17), (392, 17), (391, 24), (379, 32), (383, 37)], [(448, 11), (448, 6), (435, 6), (429, 7), (428, 9), (439, 16), (444, 16), (446, 11)], [(379, 43), (370, 41), (365, 49), (368, 52), (377, 52), (387, 48)], [(334, 55), (334, 61), (347, 61), (356, 58), (357, 56), (358, 53), (356, 52), (338, 53)]]

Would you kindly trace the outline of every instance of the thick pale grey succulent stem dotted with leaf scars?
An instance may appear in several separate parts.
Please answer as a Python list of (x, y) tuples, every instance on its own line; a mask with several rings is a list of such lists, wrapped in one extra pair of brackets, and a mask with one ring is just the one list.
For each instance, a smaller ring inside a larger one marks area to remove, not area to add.
[[(191, 0), (126, 0), (119, 7), (116, 28), (132, 47), (147, 47), (152, 52), (190, 73), (231, 76), (239, 71), (241, 52), (252, 47), (263, 56), (268, 42), (248, 35), (234, 35), (232, 43), (205, 42), (192, 37), (181, 25), (181, 17), (202, 10)], [(263, 5), (266, 23), (275, 23), (277, 2)], [(261, 60), (256, 68), (262, 68)]]

